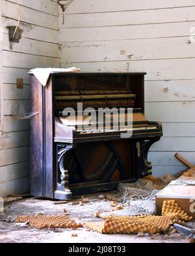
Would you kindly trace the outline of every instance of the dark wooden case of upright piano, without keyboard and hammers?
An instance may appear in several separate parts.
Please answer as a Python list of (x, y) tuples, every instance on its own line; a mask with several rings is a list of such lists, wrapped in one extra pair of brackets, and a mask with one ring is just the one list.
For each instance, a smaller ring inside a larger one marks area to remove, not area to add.
[(133, 108), (144, 114), (144, 74), (53, 73), (45, 87), (31, 74), (31, 111), (38, 112), (31, 119), (32, 195), (69, 200), (72, 194), (116, 189), (119, 182), (134, 182), (151, 174), (148, 150), (162, 136), (160, 123), (157, 131), (128, 139), (68, 143), (55, 138), (55, 118), (59, 106), (64, 106), (55, 97), (60, 91), (129, 89), (136, 95)]

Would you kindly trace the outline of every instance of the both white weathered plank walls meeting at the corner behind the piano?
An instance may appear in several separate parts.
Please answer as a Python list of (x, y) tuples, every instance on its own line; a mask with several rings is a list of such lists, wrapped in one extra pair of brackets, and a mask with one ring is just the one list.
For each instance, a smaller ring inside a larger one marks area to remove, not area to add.
[(0, 196), (29, 190), (29, 121), (13, 118), (18, 103), (29, 110), (27, 72), (60, 62), (83, 71), (148, 72), (146, 116), (164, 130), (149, 153), (154, 174), (183, 168), (175, 152), (195, 163), (195, 0), (74, 0), (64, 25), (57, 0), (19, 4), (23, 34), (11, 48), (6, 26), (17, 24), (17, 0), (1, 0), (0, 8)]

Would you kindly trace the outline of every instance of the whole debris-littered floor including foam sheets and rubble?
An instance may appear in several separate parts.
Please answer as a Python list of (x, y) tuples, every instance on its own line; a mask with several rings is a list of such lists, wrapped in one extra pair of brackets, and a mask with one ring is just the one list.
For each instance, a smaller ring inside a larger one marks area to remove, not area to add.
[[(193, 231), (195, 223), (192, 221), (192, 216), (177, 199), (162, 198), (160, 212), (159, 207), (157, 208), (159, 193), (164, 193), (168, 188), (175, 187), (177, 195), (179, 193), (183, 195), (183, 191), (188, 193), (189, 187), (191, 187), (190, 191), (194, 191), (195, 179), (193, 180), (192, 170), (190, 170), (190, 174), (192, 174), (191, 177), (183, 176), (185, 178), (177, 180), (170, 174), (166, 174), (162, 178), (149, 175), (144, 179), (137, 180), (134, 184), (120, 183), (118, 191), (75, 196), (71, 201), (53, 202), (35, 198), (14, 201), (14, 204), (10, 203), (6, 206), (7, 212), (4, 216), (7, 217), (3, 218), (3, 214), (0, 214), (0, 242), (1, 237), (5, 237), (7, 231), (12, 232), (12, 229), (16, 232), (39, 232), (36, 233), (39, 236), (44, 236), (45, 232), (50, 236), (55, 233), (58, 237), (61, 233), (65, 233), (68, 234), (66, 240), (70, 242), (72, 236), (75, 236), (74, 239), (72, 238), (74, 241), (82, 241), (86, 237), (93, 239), (92, 237), (97, 238), (97, 236), (99, 240), (104, 241), (105, 238), (101, 238), (100, 234), (96, 232), (93, 234), (90, 231), (98, 231), (104, 236), (110, 237), (112, 234), (118, 234), (118, 237), (122, 238), (118, 242), (127, 239), (125, 234), (129, 234), (129, 237), (131, 236), (133, 239), (149, 241), (161, 239), (164, 242), (169, 242), (172, 238), (172, 240), (175, 239), (175, 242), (178, 239), (192, 242), (194, 234), (191, 236), (190, 233), (189, 236), (189, 232)], [(184, 190), (178, 192), (178, 186), (184, 187)], [(39, 201), (40, 203), (38, 203)], [(23, 205), (28, 205), (28, 202), (29, 206), (23, 209)], [(42, 202), (50, 208), (42, 207)], [(36, 206), (32, 207), (33, 204)], [(64, 204), (66, 204), (66, 209), (64, 209)], [(54, 205), (55, 207), (53, 207)], [(20, 206), (20, 210), (16, 206)], [(23, 216), (19, 216), (21, 209)], [(60, 213), (61, 215), (59, 215)], [(82, 223), (79, 223), (80, 220)], [(6, 223), (5, 228), (3, 223)], [(86, 224), (83, 225), (83, 223)], [(11, 231), (10, 227), (12, 227)], [(83, 227), (85, 228), (83, 229)], [(187, 229), (188, 234), (181, 232), (178, 227)], [(77, 230), (77, 233), (72, 233), (72, 230)], [(54, 238), (54, 236), (52, 237)], [(62, 238), (62, 236), (60, 237)], [(94, 239), (96, 240), (96, 238)], [(17, 236), (7, 239), (13, 242), (17, 240)], [(20, 237), (20, 239), (25, 238)]]

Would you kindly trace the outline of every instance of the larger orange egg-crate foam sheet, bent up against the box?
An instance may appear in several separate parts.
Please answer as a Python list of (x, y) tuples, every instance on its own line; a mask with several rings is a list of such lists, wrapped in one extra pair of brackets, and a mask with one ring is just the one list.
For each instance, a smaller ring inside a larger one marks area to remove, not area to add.
[(174, 200), (165, 200), (162, 216), (108, 216), (105, 221), (85, 225), (101, 234), (156, 234), (168, 231), (171, 225), (183, 223), (183, 220), (192, 221), (192, 217), (187, 216)]

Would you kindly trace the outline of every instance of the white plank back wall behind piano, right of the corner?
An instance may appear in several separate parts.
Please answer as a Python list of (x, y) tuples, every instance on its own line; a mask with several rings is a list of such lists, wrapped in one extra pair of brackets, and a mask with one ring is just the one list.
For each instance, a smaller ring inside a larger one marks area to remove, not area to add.
[(195, 0), (74, 0), (59, 8), (61, 66), (83, 71), (146, 71), (146, 116), (162, 121), (151, 148), (153, 174), (195, 163)]

